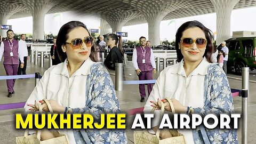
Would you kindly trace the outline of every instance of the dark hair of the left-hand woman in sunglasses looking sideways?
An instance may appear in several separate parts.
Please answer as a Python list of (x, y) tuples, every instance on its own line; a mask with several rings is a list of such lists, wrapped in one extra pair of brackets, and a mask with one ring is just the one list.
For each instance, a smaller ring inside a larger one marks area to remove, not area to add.
[[(80, 21), (70, 21), (60, 28), (60, 31), (58, 33), (57, 40), (56, 40), (56, 47), (57, 47), (57, 53), (59, 55), (61, 62), (65, 61), (65, 59), (67, 58), (66, 52), (62, 51), (62, 45), (67, 44), (66, 41), (68, 39), (68, 33), (77, 27), (83, 27), (89, 33), (89, 31), (86, 28), (86, 26), (84, 25), (84, 23), (82, 23)], [(89, 33), (89, 36), (91, 36), (90, 33)], [(92, 46), (91, 54), (90, 54), (90, 58), (92, 61), (97, 61), (95, 51), (96, 51), (95, 47)]]

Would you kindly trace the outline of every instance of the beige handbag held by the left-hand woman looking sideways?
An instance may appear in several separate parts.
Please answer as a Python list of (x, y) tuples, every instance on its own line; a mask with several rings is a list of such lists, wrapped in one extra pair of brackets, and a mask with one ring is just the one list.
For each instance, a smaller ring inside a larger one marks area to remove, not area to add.
[[(48, 106), (51, 113), (53, 113), (52, 107), (48, 100), (43, 99), (46, 105)], [(43, 109), (41, 105), (38, 105), (39, 113), (42, 113)], [(65, 134), (61, 134), (57, 131), (51, 131), (51, 133), (55, 136), (53, 139), (48, 139), (41, 141), (41, 130), (38, 130), (36, 133), (28, 135), (28, 130), (25, 131), (24, 136), (16, 137), (17, 144), (69, 144), (68, 137)]]

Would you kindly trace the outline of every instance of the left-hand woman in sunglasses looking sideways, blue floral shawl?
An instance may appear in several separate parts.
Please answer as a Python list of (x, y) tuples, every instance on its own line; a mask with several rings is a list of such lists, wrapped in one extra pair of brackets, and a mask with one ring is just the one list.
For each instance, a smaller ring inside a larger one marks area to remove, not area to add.
[[(27, 100), (27, 111), (38, 110), (38, 101), (44, 111), (49, 111), (42, 101), (47, 99), (54, 113), (91, 114), (95, 121), (100, 114), (120, 112), (113, 82), (105, 66), (95, 62), (93, 38), (82, 22), (70, 21), (60, 28), (57, 52), (62, 63), (45, 71)], [(82, 129), (61, 133), (68, 136), (70, 143), (127, 143), (123, 130)], [(44, 130), (41, 138), (54, 136)]]

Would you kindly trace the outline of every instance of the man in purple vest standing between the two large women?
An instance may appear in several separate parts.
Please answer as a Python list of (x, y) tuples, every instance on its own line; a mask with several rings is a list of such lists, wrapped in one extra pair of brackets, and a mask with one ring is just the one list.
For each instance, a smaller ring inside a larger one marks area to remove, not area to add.
[[(156, 73), (155, 57), (153, 50), (146, 46), (146, 38), (140, 37), (140, 46), (133, 50), (132, 63), (140, 80), (153, 79), (153, 73)], [(153, 84), (148, 84), (148, 95), (152, 91)], [(146, 91), (145, 84), (139, 84), (140, 102), (145, 102)]]

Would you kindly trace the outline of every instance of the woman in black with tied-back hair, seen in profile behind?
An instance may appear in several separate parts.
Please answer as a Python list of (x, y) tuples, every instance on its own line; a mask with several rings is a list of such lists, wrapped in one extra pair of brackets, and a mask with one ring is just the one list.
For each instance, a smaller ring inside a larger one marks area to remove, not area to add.
[(107, 38), (107, 46), (110, 47), (110, 52), (104, 61), (104, 65), (108, 69), (115, 70), (116, 63), (123, 63), (123, 55), (117, 48), (117, 43), (119, 42), (119, 47), (122, 47), (121, 36), (118, 37), (116, 34), (109, 34)]

